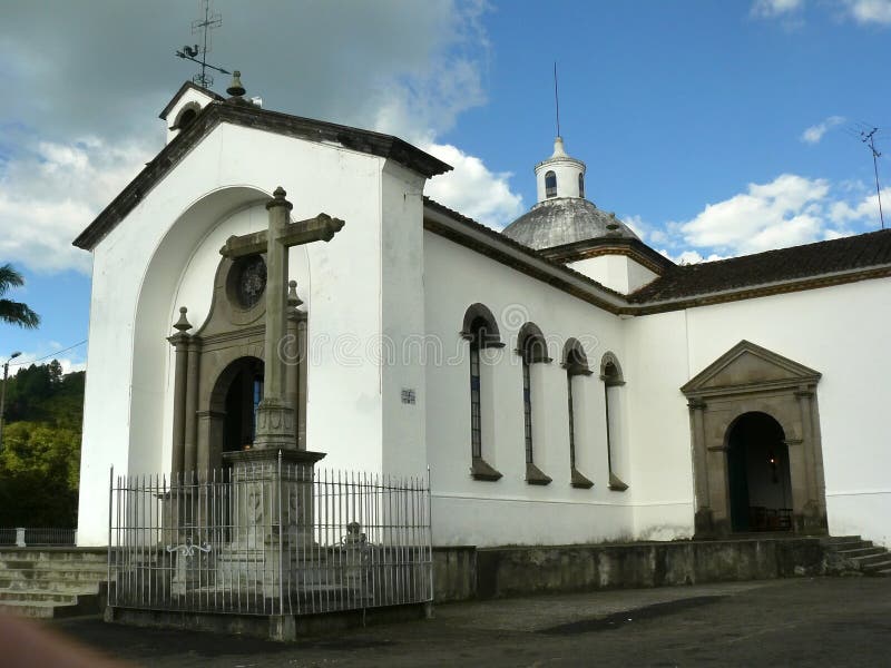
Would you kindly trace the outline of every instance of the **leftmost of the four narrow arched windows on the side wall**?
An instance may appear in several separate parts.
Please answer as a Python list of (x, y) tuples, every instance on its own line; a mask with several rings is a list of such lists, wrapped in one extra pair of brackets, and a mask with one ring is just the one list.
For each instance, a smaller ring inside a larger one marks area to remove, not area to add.
[(480, 352), (503, 347), (492, 312), (482, 304), (472, 304), (464, 313), (461, 336), (469, 343), (470, 367), (470, 474), (476, 480), (495, 481), (501, 478), (483, 459), (487, 440), (493, 434), (495, 406), (491, 397), (491, 379)]

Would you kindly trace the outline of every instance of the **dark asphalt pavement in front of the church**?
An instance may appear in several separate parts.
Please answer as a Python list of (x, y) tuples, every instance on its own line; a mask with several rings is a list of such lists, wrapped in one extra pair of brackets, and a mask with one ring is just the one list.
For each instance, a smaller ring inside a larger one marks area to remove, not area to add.
[(137, 666), (891, 666), (891, 578), (825, 578), (441, 606), (435, 619), (281, 645), (75, 619)]

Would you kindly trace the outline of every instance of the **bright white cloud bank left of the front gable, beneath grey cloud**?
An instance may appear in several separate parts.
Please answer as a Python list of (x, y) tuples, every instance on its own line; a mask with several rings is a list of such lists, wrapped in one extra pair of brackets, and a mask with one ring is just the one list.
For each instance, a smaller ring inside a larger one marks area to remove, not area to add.
[(21, 147), (0, 173), (0, 257), (38, 272), (90, 271), (71, 245), (150, 157), (135, 144), (95, 137)]

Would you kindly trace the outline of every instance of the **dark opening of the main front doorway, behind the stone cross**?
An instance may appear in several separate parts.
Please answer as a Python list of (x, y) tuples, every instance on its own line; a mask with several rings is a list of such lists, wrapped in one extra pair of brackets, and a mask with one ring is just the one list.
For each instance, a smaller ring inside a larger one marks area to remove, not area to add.
[[(222, 418), (219, 452), (247, 450), (256, 435), (256, 411), (263, 399), (263, 360), (238, 357), (217, 376), (210, 410)], [(216, 450), (216, 449), (214, 449)]]

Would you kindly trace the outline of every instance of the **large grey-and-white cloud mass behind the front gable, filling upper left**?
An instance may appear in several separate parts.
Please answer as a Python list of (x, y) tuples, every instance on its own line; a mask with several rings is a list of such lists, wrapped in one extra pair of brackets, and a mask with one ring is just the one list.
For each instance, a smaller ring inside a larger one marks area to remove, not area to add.
[[(232, 3), (224, 13), (237, 32), (215, 36), (222, 65), (233, 67), (225, 58), (239, 55), (248, 95), (262, 95), (268, 109), (375, 128), (439, 151), (456, 169), (431, 184), (432, 196), (493, 226), (519, 215), (509, 174), (437, 143), (463, 111), (486, 102), (484, 0), (273, 4), (294, 30), (270, 32), (272, 7)], [(96, 0), (61, 3), (51, 16), (32, 3), (4, 8), (0, 61), (17, 95), (0, 108), (0, 257), (35, 271), (89, 273), (89, 254), (71, 240), (160, 148), (151, 145), (161, 135), (155, 115), (190, 75), (175, 58), (157, 59), (157, 45), (194, 18), (182, 3), (168, 6), (121, 13), (115, 0)], [(36, 21), (41, 40), (28, 30)], [(127, 29), (133, 22), (137, 33)], [(255, 42), (264, 49), (243, 48)], [(270, 59), (275, 52), (288, 57)], [(221, 77), (215, 88), (224, 87)]]

